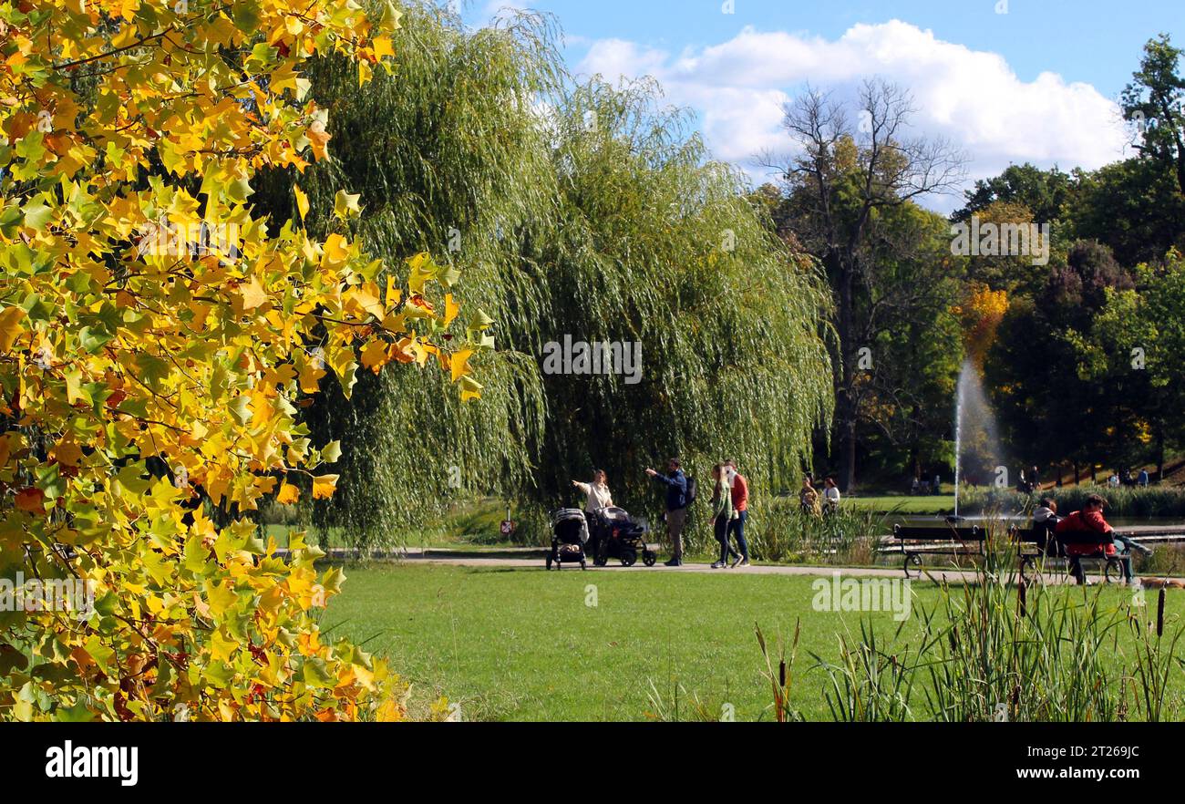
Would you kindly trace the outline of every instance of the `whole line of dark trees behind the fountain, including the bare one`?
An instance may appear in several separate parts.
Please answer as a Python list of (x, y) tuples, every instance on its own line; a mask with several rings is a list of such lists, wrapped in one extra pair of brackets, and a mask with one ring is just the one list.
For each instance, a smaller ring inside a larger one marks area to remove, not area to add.
[[(782, 180), (752, 200), (820, 259), (835, 299), (835, 426), (816, 466), (848, 486), (949, 479), (965, 357), (1016, 466), (1081, 477), (1185, 446), (1181, 76), (1181, 51), (1149, 40), (1121, 98), (1136, 155), (1069, 173), (1012, 165), (949, 221), (917, 202), (957, 179), (959, 155), (909, 139), (902, 90), (869, 82), (846, 107), (808, 90), (787, 109), (799, 155), (767, 159)], [(971, 223), (1048, 224), (1048, 253), (953, 254), (952, 225)]]

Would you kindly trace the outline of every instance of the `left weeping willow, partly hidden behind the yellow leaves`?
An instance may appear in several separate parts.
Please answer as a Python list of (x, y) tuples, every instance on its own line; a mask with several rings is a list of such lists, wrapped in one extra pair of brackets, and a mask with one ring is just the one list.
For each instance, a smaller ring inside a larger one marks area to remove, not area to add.
[[(538, 368), (517, 340), (550, 306), (537, 266), (519, 259), (529, 223), (552, 217), (555, 178), (531, 115), (561, 76), (546, 18), (469, 34), (447, 12), (411, 6), (395, 42), (398, 70), (358, 87), (357, 66), (324, 59), (308, 77), (333, 97), (332, 160), (301, 177), (308, 225), (327, 222), (339, 189), (363, 193), (358, 236), (398, 260), (429, 251), (463, 273), (465, 307), (497, 321), (497, 351), (474, 357), (480, 403), (434, 400), (443, 376), (404, 382), (361, 376), (346, 401), (331, 389), (307, 411), (313, 430), (340, 439), (340, 497), (314, 522), (354, 544), (392, 540), (449, 500), (530, 490), (544, 432)], [(294, 177), (274, 177), (288, 204)]]

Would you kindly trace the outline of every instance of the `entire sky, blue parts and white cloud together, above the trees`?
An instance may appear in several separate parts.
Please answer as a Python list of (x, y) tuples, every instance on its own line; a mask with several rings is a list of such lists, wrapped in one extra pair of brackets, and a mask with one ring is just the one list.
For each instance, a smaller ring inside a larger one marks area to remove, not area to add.
[(972, 179), (1095, 168), (1130, 154), (1115, 101), (1144, 43), (1185, 45), (1183, 0), (470, 0), (466, 21), (501, 6), (555, 14), (577, 74), (655, 76), (757, 181), (754, 153), (793, 148), (781, 107), (806, 82), (843, 97), (871, 76), (912, 92), (917, 133), (962, 147)]

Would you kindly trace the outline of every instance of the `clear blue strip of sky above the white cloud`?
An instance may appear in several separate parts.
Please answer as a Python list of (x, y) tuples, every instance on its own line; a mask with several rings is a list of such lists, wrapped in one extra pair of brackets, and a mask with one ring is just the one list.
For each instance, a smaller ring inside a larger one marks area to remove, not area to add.
[(1185, 43), (1181, 0), (517, 0), (474, 4), (466, 14), (476, 23), (489, 9), (518, 5), (553, 13), (575, 38), (568, 55), (576, 64), (597, 39), (629, 39), (672, 50), (718, 44), (747, 25), (768, 31), (805, 31), (835, 39), (857, 23), (898, 19), (930, 28), (940, 39), (988, 50), (1007, 59), (1023, 79), (1043, 71), (1093, 84), (1116, 95), (1136, 68), (1140, 49), (1165, 31)]

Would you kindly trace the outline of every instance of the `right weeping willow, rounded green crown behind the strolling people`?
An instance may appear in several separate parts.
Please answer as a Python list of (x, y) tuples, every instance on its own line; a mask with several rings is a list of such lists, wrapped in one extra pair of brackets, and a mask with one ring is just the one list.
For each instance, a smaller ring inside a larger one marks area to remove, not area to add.
[(642, 470), (679, 455), (705, 481), (736, 458), (757, 493), (798, 473), (831, 415), (815, 263), (769, 234), (734, 168), (712, 162), (659, 88), (594, 79), (556, 109), (559, 183), (547, 266), (552, 340), (636, 342), (641, 381), (547, 375), (540, 491), (610, 472), (616, 499), (658, 502)]

